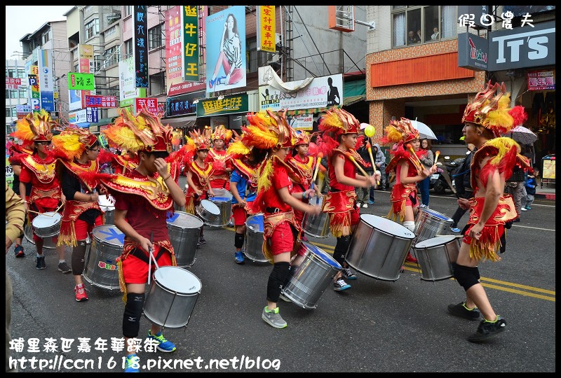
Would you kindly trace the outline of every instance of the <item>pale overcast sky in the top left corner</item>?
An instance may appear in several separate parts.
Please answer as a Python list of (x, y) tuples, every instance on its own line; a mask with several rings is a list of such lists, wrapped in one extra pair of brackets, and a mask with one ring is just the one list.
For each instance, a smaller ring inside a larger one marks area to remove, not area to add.
[(20, 39), (34, 33), (49, 21), (66, 20), (64, 14), (72, 6), (6, 6), (6, 59), (16, 59), (14, 51), (22, 51)]

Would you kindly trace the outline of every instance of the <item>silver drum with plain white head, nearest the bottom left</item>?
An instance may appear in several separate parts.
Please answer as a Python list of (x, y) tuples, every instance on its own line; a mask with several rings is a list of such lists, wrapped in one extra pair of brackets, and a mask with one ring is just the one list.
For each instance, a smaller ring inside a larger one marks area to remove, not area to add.
[(160, 267), (146, 302), (144, 316), (165, 328), (181, 328), (189, 323), (202, 283), (197, 276), (180, 267)]

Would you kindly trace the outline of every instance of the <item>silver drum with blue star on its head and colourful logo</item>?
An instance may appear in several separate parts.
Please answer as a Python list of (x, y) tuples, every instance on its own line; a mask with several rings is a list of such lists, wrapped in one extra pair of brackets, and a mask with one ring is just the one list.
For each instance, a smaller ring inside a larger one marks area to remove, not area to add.
[(86, 253), (83, 278), (93, 286), (119, 289), (117, 258), (123, 253), (125, 234), (114, 225), (100, 225), (92, 231), (93, 239)]

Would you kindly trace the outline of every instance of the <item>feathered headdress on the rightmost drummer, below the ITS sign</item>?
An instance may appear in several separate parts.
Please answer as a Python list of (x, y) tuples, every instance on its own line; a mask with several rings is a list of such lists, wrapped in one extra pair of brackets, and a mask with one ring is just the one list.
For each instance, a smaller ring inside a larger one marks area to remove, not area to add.
[(500, 137), (527, 119), (523, 106), (508, 108), (510, 104), (511, 95), (506, 93), (504, 83), (491, 84), (489, 80), (485, 90), (476, 94), (473, 102), (466, 106), (461, 123), (475, 123)]

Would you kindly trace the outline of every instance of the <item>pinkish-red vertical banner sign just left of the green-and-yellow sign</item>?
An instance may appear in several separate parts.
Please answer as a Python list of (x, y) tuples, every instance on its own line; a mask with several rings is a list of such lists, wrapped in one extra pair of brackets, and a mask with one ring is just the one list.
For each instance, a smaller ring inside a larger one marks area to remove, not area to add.
[(182, 81), (181, 6), (165, 11), (165, 68), (168, 87)]

